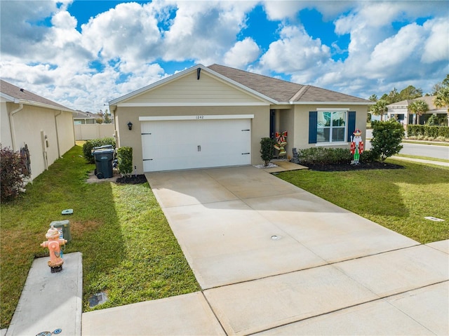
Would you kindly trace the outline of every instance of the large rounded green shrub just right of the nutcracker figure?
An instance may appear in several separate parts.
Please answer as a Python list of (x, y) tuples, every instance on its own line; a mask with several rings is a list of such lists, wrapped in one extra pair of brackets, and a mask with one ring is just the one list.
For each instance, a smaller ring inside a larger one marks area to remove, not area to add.
[(402, 149), (401, 142), (403, 136), (404, 129), (401, 123), (395, 120), (377, 121), (373, 123), (371, 152), (384, 161)]

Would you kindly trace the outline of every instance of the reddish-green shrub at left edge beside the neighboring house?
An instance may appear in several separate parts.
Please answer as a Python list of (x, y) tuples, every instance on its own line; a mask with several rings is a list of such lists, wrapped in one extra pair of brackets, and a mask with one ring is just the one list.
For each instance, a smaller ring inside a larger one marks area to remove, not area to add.
[(25, 158), (19, 152), (1, 147), (0, 144), (0, 172), (1, 172), (1, 201), (11, 201), (20, 191), (25, 191), (24, 179), (29, 177), (29, 170)]

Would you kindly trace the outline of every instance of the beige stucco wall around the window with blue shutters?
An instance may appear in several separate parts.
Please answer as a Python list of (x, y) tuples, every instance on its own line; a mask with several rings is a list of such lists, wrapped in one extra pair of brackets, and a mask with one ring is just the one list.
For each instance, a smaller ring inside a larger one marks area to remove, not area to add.
[[(309, 144), (309, 112), (316, 111), (317, 109), (348, 109), (348, 111), (356, 112), (356, 128), (362, 131), (363, 141), (366, 141), (366, 105), (295, 105), (295, 135), (293, 145), (291, 148), (304, 149), (316, 146), (325, 147), (348, 147), (349, 142), (336, 142), (336, 143), (319, 143)], [(290, 154), (290, 153), (289, 153)]]

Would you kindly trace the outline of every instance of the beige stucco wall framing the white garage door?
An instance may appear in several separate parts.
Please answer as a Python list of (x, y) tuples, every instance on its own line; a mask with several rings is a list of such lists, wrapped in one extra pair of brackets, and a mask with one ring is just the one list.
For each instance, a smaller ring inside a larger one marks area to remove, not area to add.
[[(116, 129), (119, 147), (133, 147), (133, 164), (142, 173), (142, 135), (139, 116), (196, 116), (220, 114), (254, 114), (251, 121), (251, 163), (260, 164), (260, 139), (269, 136), (269, 105), (266, 106), (197, 106), (197, 107), (118, 107)], [(133, 129), (128, 129), (128, 122)], [(163, 148), (161, 148), (163, 150)]]

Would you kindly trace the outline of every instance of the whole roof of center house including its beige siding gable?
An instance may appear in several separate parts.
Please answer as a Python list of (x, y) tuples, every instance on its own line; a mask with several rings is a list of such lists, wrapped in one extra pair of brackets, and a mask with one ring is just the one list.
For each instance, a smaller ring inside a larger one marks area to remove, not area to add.
[[(201, 86), (200, 90), (198, 90), (199, 85), (197, 84), (199, 82), (195, 82), (197, 80), (196, 76), (203, 76), (203, 74), (206, 77), (208, 76), (208, 79), (213, 79), (214, 81), (210, 81), (206, 86)], [(187, 78), (189, 79), (187, 80)], [(220, 81), (221, 88), (218, 83)], [(231, 93), (230, 88), (232, 88), (233, 93)], [(285, 103), (326, 104), (340, 102), (361, 105), (373, 104), (370, 100), (357, 98), (344, 93), (338, 93), (316, 86), (304, 86), (214, 64), (209, 67), (197, 65), (178, 72), (173, 76), (166, 77), (161, 81), (128, 93), (128, 95), (116, 98), (110, 101), (109, 105), (138, 106), (142, 104), (163, 105), (167, 103), (181, 105), (182, 103), (217, 102), (217, 99), (220, 101), (220, 99), (224, 98), (227, 90), (229, 91), (227, 94), (229, 94), (229, 97), (232, 96), (234, 103), (249, 103), (247, 100), (248, 97), (251, 97), (252, 102), (269, 102), (274, 105)], [(236, 94), (236, 91), (239, 91), (239, 93)], [(201, 99), (197, 96), (198, 94), (201, 95)], [(208, 94), (209, 97), (207, 97)]]

